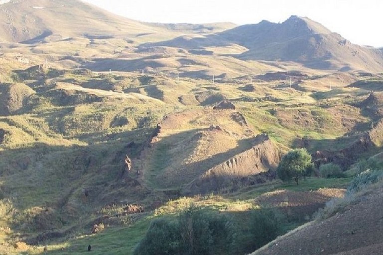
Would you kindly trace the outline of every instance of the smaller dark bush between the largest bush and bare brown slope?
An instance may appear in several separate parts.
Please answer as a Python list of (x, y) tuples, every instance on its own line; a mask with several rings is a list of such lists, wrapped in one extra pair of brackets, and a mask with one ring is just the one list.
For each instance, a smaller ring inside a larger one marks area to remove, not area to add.
[(284, 215), (275, 209), (255, 210), (249, 219), (253, 238), (252, 250), (256, 250), (283, 233)]

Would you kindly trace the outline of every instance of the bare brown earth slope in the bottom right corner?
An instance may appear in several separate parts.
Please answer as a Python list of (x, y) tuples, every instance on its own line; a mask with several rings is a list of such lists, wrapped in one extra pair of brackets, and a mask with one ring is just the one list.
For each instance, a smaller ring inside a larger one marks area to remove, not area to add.
[(380, 184), (330, 218), (292, 231), (252, 255), (382, 254), (382, 200)]

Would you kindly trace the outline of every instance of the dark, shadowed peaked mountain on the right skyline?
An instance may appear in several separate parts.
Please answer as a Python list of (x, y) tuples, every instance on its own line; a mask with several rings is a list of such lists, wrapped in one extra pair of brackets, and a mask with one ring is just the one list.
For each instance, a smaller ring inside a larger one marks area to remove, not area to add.
[(352, 44), (337, 33), (306, 17), (291, 16), (281, 24), (262, 21), (222, 33), (225, 39), (249, 51), (246, 60), (296, 61), (311, 68), (379, 71), (382, 52)]

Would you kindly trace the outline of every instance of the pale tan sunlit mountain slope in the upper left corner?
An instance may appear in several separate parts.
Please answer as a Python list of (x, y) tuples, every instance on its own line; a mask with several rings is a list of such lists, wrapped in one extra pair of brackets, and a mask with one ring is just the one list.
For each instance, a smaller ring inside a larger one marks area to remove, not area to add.
[(0, 5), (0, 34), (10, 42), (70, 36), (153, 33), (154, 26), (113, 15), (78, 0), (13, 0)]

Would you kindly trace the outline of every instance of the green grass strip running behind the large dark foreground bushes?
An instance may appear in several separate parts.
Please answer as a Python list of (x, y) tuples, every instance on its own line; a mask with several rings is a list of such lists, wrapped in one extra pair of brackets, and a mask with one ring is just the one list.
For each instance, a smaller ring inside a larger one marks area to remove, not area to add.
[[(345, 188), (351, 179), (352, 178), (340, 178), (329, 180), (312, 177), (307, 180), (302, 180), (298, 186), (293, 183), (276, 181), (259, 187), (244, 188), (237, 193), (229, 195), (183, 197), (167, 202), (131, 226), (106, 228), (100, 234), (76, 237), (62, 244), (52, 246), (53, 249), (57, 249), (61, 246), (65, 247), (65, 249), (63, 251), (60, 249), (52, 250), (51, 253), (79, 255), (86, 252), (88, 244), (91, 244), (92, 251), (94, 251), (95, 254), (130, 255), (146, 233), (150, 221), (154, 217), (175, 217), (181, 211), (194, 205), (231, 214), (238, 224), (242, 222), (243, 226), (245, 226), (246, 212), (248, 212), (248, 210), (257, 209), (257, 205), (253, 203), (253, 200), (261, 194), (282, 189), (291, 191), (313, 191), (320, 188)], [(244, 217), (243, 219), (242, 216)], [(300, 224), (301, 223), (297, 222), (287, 222), (286, 225), (283, 226), (283, 229), (287, 232)]]

